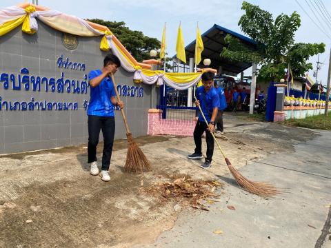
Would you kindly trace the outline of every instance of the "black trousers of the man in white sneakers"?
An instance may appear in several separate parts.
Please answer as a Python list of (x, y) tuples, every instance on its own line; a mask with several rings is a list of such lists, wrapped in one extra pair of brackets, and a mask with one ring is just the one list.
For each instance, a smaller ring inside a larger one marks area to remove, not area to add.
[(88, 163), (97, 161), (97, 145), (99, 143), (100, 130), (102, 130), (103, 134), (101, 169), (108, 170), (110, 167), (110, 158), (112, 157), (112, 145), (114, 144), (114, 116), (88, 116)]

